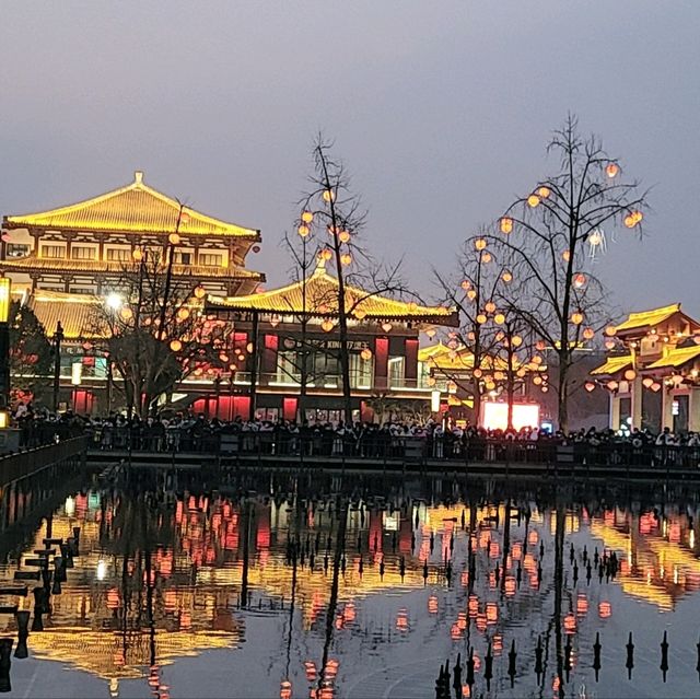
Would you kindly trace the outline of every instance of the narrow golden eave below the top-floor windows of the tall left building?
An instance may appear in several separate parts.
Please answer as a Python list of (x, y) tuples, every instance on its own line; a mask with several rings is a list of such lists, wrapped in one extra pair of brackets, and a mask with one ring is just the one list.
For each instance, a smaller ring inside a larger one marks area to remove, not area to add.
[[(138, 264), (121, 261), (98, 261), (88, 259), (62, 259), (57, 257), (20, 257), (0, 260), (0, 269), (8, 271), (82, 271), (93, 273), (121, 273), (125, 269), (137, 269)], [(175, 276), (191, 276), (197, 278), (231, 278), (264, 280), (260, 272), (243, 267), (210, 267), (207, 265), (173, 265)]]

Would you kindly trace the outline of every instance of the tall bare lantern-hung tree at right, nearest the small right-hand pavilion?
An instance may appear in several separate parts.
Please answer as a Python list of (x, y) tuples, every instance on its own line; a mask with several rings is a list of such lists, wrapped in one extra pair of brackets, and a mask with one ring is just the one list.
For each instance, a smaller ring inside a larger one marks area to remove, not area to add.
[(512, 260), (522, 282), (521, 317), (557, 354), (559, 428), (565, 431), (569, 370), (582, 341), (606, 318), (593, 261), (616, 226), (641, 233), (646, 193), (637, 180), (625, 180), (598, 138), (580, 136), (573, 116), (555, 131), (547, 151), (559, 159), (558, 172), (506, 209), (489, 243)]

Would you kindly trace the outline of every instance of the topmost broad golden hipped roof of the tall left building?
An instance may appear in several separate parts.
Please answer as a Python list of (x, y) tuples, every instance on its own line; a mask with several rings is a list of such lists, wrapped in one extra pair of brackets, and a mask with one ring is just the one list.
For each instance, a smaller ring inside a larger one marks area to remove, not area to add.
[[(143, 184), (137, 172), (126, 187), (107, 191), (85, 201), (23, 215), (5, 217), (7, 228), (38, 228), (79, 231), (124, 231), (172, 233), (177, 223), (179, 202)], [(260, 232), (183, 209), (179, 233), (183, 235), (226, 235), (258, 240)]]

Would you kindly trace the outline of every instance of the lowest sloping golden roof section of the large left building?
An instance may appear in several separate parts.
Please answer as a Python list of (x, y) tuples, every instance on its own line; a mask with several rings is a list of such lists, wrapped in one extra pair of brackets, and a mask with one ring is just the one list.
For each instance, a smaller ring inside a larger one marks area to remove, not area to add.
[(67, 340), (84, 340), (104, 335), (100, 331), (100, 316), (96, 313), (103, 303), (102, 299), (88, 294), (42, 290), (36, 291), (28, 301), (48, 337), (52, 336), (60, 321)]

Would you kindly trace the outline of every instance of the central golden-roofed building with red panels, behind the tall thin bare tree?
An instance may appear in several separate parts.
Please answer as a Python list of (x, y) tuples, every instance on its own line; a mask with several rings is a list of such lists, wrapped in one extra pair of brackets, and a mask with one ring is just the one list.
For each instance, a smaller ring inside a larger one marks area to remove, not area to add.
[[(456, 326), (457, 313), (423, 306), (346, 284), (353, 419), (401, 409), (429, 409), (432, 386), (419, 373), (419, 333)], [(249, 354), (231, 389), (209, 411), (221, 418), (295, 419), (302, 383), (304, 419), (343, 420), (339, 360), (338, 280), (320, 259), (315, 271), (279, 289), (241, 296), (210, 295), (209, 318), (232, 321), (234, 349)], [(304, 359), (303, 354), (306, 354)], [(257, 358), (257, 360), (255, 359)], [(306, 381), (302, 381), (302, 368)], [(207, 411), (207, 400), (195, 404)]]

